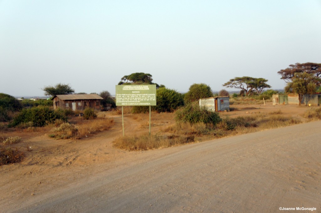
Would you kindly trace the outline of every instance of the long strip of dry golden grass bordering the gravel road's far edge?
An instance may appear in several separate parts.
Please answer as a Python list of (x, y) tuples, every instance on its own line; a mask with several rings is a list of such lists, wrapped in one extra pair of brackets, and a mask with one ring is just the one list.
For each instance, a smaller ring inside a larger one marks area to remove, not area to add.
[[(139, 118), (141, 117), (137, 117), (137, 119)], [(114, 145), (117, 148), (125, 150), (159, 149), (184, 143), (195, 143), (226, 136), (284, 127), (300, 122), (301, 121), (292, 117), (281, 116), (279, 111), (276, 111), (271, 115), (257, 114), (245, 117), (225, 118), (215, 126), (213, 124), (206, 125), (204, 123), (190, 124), (176, 122), (174, 125), (167, 127), (156, 135), (119, 137), (114, 141)]]

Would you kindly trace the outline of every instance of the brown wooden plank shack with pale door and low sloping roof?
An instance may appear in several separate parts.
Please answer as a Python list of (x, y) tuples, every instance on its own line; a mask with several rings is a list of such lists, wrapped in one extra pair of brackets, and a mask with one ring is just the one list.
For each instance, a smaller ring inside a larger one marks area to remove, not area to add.
[(54, 102), (54, 110), (72, 109), (72, 111), (83, 111), (86, 107), (100, 111), (100, 100), (103, 99), (98, 94), (71, 94), (55, 95), (51, 100)]

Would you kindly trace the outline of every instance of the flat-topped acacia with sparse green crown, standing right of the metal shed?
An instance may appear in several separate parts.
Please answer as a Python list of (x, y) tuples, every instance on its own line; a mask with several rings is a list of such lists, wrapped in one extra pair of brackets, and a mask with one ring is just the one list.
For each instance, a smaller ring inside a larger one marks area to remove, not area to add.
[(244, 76), (232, 78), (230, 79), (230, 81), (223, 84), (223, 86), (241, 89), (241, 93), (244, 93), (246, 96), (248, 96), (253, 91), (256, 91), (258, 94), (261, 94), (261, 92), (265, 88), (270, 88), (271, 86), (266, 84), (267, 81), (268, 80), (266, 80), (265, 78), (252, 78)]

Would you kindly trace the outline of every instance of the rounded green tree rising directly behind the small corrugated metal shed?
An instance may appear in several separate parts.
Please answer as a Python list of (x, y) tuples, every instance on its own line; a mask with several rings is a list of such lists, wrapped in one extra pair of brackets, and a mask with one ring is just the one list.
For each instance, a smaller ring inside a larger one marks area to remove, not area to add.
[(211, 87), (206, 84), (193, 84), (189, 87), (184, 99), (186, 102), (193, 102), (200, 98), (212, 97), (213, 93)]

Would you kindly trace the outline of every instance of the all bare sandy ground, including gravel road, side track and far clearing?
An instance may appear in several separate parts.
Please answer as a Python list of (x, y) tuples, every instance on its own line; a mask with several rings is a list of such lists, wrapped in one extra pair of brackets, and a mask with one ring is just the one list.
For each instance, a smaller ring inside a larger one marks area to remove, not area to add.
[[(302, 119), (308, 109), (235, 107), (239, 111), (225, 114), (281, 110)], [(24, 145), (32, 147), (26, 159), (0, 168), (0, 211), (278, 212), (304, 206), (321, 212), (320, 122), (128, 152), (112, 147), (122, 135), (121, 117), (114, 119), (112, 129), (81, 140), (25, 135)], [(148, 130), (125, 116), (125, 134), (132, 132)]]

